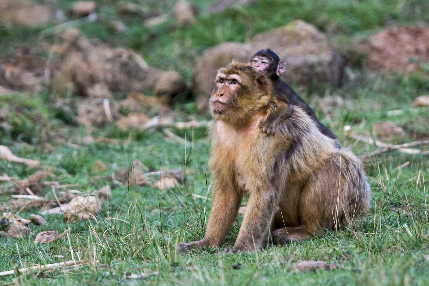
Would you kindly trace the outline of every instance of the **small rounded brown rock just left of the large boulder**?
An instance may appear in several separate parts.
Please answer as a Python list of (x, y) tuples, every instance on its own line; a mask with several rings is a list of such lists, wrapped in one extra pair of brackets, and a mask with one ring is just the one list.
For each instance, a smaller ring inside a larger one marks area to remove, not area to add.
[(158, 78), (154, 86), (154, 95), (159, 97), (161, 102), (170, 104), (172, 99), (186, 91), (186, 83), (177, 72), (164, 72)]

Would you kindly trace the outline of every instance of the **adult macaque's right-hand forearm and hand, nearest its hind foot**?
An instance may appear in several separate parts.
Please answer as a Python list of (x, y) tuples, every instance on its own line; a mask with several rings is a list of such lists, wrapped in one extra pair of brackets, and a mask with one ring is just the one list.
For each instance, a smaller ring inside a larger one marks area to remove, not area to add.
[(277, 209), (277, 201), (274, 190), (251, 193), (234, 251), (260, 250)]

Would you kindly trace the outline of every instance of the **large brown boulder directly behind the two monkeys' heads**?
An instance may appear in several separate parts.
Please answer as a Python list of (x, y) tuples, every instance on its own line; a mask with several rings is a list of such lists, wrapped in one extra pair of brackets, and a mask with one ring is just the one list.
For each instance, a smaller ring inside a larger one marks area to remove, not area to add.
[(196, 60), (193, 69), (193, 90), (199, 111), (207, 111), (208, 98), (216, 70), (231, 60), (250, 61), (261, 49), (271, 48), (287, 62), (282, 79), (290, 84), (308, 86), (316, 82), (341, 84), (344, 60), (329, 45), (326, 36), (311, 24), (300, 20), (290, 22), (248, 42), (222, 43), (208, 49)]

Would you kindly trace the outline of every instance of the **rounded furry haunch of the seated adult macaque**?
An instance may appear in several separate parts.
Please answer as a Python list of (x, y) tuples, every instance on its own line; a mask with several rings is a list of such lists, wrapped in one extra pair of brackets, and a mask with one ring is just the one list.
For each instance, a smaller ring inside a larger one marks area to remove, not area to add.
[(340, 149), (305, 184), (299, 204), (302, 225), (314, 235), (347, 226), (366, 212), (370, 192), (358, 159)]

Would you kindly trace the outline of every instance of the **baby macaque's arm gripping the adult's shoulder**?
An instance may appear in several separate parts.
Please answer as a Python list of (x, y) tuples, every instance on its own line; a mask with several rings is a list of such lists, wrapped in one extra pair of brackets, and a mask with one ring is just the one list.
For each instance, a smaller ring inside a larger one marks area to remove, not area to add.
[(259, 127), (262, 128), (262, 132), (267, 135), (273, 135), (275, 132), (275, 126), (281, 120), (286, 119), (293, 112), (293, 105), (286, 102), (270, 102), (268, 115), (263, 120)]

